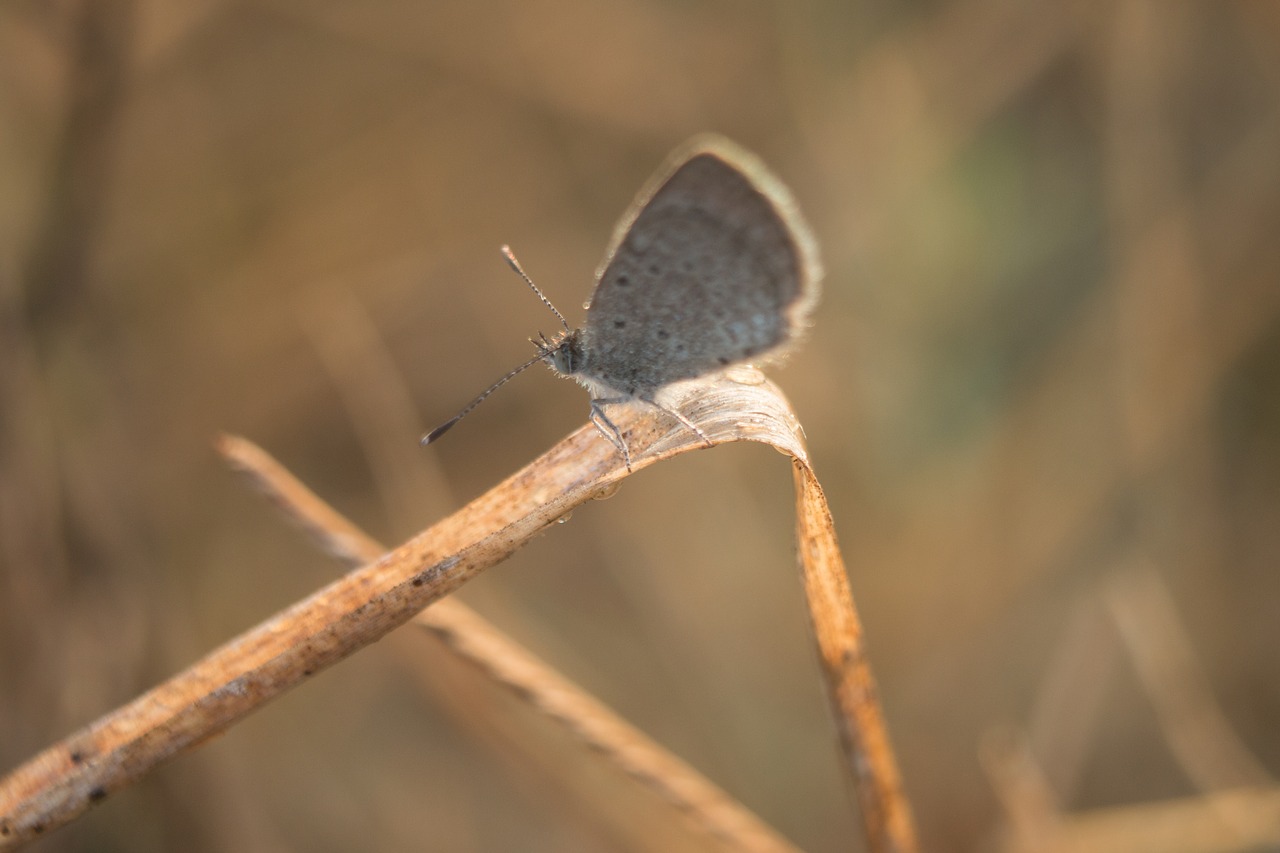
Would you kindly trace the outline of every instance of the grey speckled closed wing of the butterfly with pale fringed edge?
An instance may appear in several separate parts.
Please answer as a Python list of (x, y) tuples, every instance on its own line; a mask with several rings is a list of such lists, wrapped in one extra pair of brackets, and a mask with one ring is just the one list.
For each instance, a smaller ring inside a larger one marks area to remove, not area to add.
[(581, 373), (622, 394), (777, 355), (818, 298), (817, 250), (750, 154), (695, 140), (623, 216), (582, 329)]

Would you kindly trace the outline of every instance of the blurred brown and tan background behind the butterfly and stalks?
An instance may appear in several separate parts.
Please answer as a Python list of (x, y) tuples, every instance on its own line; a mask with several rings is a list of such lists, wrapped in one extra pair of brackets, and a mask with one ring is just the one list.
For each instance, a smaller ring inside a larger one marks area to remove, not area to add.
[[(823, 248), (773, 375), (927, 844), (1270, 784), (1272, 0), (4, 4), (0, 766), (334, 576), (220, 432), (394, 543), (584, 423), (535, 369), (417, 446), (554, 330), (498, 247), (579, 321), (708, 129)], [(765, 448), (685, 456), (462, 597), (805, 849), (860, 849), (791, 500)], [(609, 792), (582, 807), (383, 646), (38, 849), (705, 849), (424, 643)]]

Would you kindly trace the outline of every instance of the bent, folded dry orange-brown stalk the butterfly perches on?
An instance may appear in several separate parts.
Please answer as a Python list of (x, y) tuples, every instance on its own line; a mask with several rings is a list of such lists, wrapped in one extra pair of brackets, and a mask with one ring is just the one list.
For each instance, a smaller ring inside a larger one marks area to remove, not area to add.
[[(664, 405), (682, 411), (713, 443), (759, 441), (795, 459), (805, 590), (868, 840), (874, 850), (915, 849), (831, 516), (790, 406), (772, 383), (746, 370), (664, 391)], [(652, 407), (620, 407), (611, 418), (627, 435), (635, 470), (703, 447)], [(625, 476), (613, 447), (594, 428), (579, 429), (457, 514), (15, 770), (0, 781), (0, 848), (70, 821), (378, 640), (573, 507), (611, 493)]]

